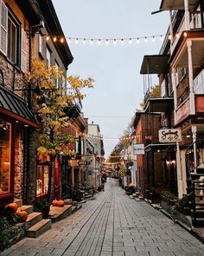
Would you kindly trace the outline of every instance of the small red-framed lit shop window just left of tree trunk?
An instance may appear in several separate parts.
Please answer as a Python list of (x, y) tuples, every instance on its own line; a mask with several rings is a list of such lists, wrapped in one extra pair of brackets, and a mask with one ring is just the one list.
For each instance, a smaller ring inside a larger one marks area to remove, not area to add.
[(36, 195), (48, 194), (49, 166), (37, 166)]

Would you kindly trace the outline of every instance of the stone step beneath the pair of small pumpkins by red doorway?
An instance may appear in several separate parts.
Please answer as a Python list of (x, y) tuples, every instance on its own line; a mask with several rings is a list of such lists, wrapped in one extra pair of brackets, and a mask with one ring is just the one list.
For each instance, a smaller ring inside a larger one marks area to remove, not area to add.
[(52, 222), (62, 220), (72, 214), (72, 205), (65, 205), (64, 207), (50, 207), (49, 219)]

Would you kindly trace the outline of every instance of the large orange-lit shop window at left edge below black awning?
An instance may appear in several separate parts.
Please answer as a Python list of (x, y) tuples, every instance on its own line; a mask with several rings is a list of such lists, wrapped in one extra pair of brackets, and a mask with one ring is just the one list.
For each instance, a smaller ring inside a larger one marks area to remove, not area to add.
[(10, 193), (11, 124), (0, 120), (0, 195)]

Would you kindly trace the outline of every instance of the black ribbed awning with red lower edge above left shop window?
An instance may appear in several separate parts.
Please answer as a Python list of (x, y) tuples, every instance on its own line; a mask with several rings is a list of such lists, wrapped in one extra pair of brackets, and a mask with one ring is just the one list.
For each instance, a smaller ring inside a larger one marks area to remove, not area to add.
[(8, 115), (16, 121), (39, 128), (35, 116), (29, 110), (26, 103), (9, 89), (0, 85), (0, 114)]

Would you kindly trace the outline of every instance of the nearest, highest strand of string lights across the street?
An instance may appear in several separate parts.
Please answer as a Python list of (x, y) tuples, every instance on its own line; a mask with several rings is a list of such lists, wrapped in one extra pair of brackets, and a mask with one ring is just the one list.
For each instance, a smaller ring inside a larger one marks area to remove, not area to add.
[[(179, 37), (178, 34), (175, 35), (176, 37)], [(184, 36), (187, 36), (187, 33), (184, 33)], [(133, 44), (133, 43), (140, 43), (140, 41), (143, 39), (144, 43), (147, 42), (155, 42), (156, 38), (160, 38), (161, 41), (163, 41), (164, 36), (139, 36), (139, 37), (129, 37), (129, 38), (83, 38), (83, 37), (66, 37), (66, 36), (46, 36), (46, 40), (52, 39), (55, 42), (65, 43), (65, 40), (67, 39), (67, 43), (90, 43), (91, 45), (94, 43), (97, 43), (98, 45), (104, 43), (105, 45), (109, 45), (112, 43), (113, 45), (116, 45), (117, 43), (120, 43), (121, 45), (124, 45), (125, 43)], [(170, 40), (170, 36), (169, 36)]]

